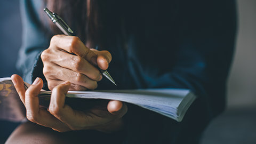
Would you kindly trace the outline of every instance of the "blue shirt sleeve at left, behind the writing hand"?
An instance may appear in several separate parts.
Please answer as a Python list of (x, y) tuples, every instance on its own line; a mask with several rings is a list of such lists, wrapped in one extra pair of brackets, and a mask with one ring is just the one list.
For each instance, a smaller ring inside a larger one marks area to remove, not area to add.
[(43, 1), (21, 0), (22, 46), (18, 55), (17, 68), (25, 82), (31, 83), (43, 76), (43, 63), (40, 54), (49, 46), (49, 30), (43, 15)]

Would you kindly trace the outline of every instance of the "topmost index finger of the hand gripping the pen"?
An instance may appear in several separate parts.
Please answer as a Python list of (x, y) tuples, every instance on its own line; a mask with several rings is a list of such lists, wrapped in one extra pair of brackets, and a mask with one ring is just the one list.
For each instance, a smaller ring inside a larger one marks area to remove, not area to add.
[[(51, 45), (59, 47), (69, 53), (74, 53), (97, 65), (97, 55), (93, 53), (83, 42), (75, 36), (55, 35), (51, 39)], [(50, 47), (51, 47), (50, 45)]]

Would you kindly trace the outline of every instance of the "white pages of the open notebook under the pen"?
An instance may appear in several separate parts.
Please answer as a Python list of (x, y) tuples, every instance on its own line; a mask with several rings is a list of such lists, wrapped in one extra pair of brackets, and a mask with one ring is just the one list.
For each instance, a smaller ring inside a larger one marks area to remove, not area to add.
[[(50, 93), (49, 91), (41, 92), (42, 95)], [(189, 93), (190, 91), (185, 89), (69, 91), (67, 97), (119, 100), (155, 111), (180, 122), (183, 116), (179, 119), (178, 107)]]

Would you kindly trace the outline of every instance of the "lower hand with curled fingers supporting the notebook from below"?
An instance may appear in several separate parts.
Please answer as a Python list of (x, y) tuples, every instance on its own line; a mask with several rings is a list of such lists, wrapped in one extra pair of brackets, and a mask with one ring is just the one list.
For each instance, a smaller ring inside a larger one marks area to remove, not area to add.
[(46, 110), (39, 107), (37, 97), (43, 87), (41, 78), (36, 78), (27, 91), (20, 76), (12, 75), (12, 82), (26, 107), (26, 116), (31, 122), (59, 132), (98, 130), (109, 133), (122, 129), (122, 117), (127, 112), (127, 106), (121, 101), (110, 100), (107, 107), (97, 106), (86, 112), (74, 110), (65, 105), (70, 83), (64, 82), (54, 87), (49, 109)]

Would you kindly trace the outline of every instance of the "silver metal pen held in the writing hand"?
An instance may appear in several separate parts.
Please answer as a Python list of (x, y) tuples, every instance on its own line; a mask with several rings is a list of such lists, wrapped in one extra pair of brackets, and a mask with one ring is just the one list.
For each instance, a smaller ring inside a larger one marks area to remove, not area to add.
[[(52, 13), (47, 8), (44, 9), (44, 12), (48, 15), (48, 17), (52, 20), (52, 22), (64, 33), (68, 36), (73, 36), (74, 31), (67, 25), (67, 23), (61, 19), (61, 17), (57, 13)], [(107, 77), (110, 82), (116, 85), (114, 79), (109, 75), (107, 70), (100, 69), (100, 72), (103, 76)]]

